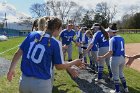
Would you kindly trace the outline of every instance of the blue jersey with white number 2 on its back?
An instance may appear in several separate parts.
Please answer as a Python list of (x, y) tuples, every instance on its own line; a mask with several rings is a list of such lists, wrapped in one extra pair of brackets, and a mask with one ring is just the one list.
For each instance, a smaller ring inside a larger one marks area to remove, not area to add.
[(101, 31), (97, 31), (93, 35), (92, 43), (93, 43), (93, 45), (98, 45), (99, 48), (109, 46), (109, 41), (105, 39), (105, 37)]

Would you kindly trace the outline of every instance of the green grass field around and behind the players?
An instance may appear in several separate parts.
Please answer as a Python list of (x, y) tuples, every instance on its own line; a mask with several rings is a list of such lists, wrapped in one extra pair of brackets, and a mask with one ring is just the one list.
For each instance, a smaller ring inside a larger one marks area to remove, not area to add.
[[(140, 43), (140, 34), (123, 34), (126, 43)], [(12, 38), (8, 41), (0, 42), (0, 53), (18, 46), (24, 37)], [(17, 50), (13, 49), (7, 53), (0, 55), (6, 59), (11, 60), (14, 52)], [(73, 58), (77, 58), (77, 49), (74, 47)], [(20, 63), (20, 62), (19, 62)], [(125, 76), (127, 79), (130, 93), (140, 93), (140, 72), (137, 72), (130, 68), (125, 68)], [(105, 69), (106, 73), (106, 69)], [(0, 77), (0, 93), (18, 93), (19, 77), (20, 77), (20, 66), (17, 66), (16, 76), (12, 82), (8, 82), (5, 76)], [(66, 71), (55, 71), (54, 91), (53, 93), (81, 93), (78, 85), (70, 78)]]

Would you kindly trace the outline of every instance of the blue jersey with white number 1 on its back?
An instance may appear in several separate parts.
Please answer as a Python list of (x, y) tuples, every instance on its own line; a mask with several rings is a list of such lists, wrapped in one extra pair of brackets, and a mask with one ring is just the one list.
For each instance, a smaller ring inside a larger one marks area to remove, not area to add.
[(125, 56), (124, 39), (117, 35), (109, 40), (109, 51), (113, 51), (112, 56)]

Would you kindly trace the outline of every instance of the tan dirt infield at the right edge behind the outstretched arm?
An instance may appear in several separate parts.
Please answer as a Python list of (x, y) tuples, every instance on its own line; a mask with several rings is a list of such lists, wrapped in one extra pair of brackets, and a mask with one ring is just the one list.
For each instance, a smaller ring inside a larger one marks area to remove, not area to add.
[[(126, 44), (125, 48), (126, 48), (126, 55), (132, 56), (132, 55), (140, 53), (140, 43)], [(126, 62), (127, 62), (127, 59), (126, 59)], [(140, 72), (140, 59), (134, 60), (134, 62), (132, 63), (130, 67)]]

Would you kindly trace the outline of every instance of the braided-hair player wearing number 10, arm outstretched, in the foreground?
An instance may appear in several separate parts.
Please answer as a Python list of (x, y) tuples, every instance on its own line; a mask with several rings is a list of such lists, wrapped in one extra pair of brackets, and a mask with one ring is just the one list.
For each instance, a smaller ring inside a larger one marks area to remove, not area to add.
[(62, 23), (56, 17), (46, 20), (46, 30), (31, 32), (15, 53), (7, 74), (12, 80), (15, 66), (22, 56), (20, 93), (52, 93), (51, 73), (53, 66), (56, 69), (69, 69), (71, 66), (80, 66), (81, 60), (64, 63), (62, 45), (55, 37), (61, 31)]

